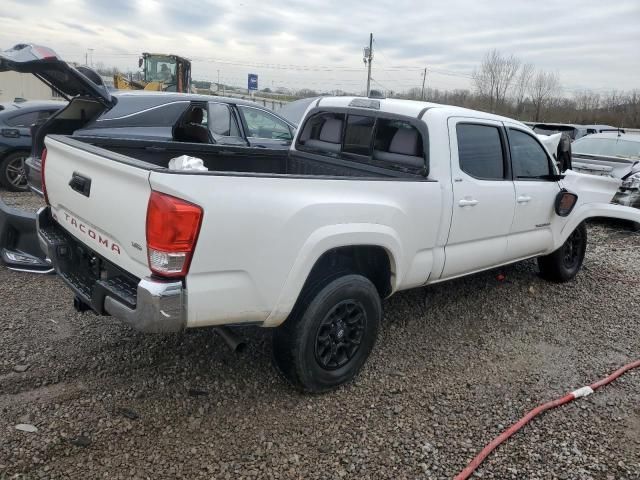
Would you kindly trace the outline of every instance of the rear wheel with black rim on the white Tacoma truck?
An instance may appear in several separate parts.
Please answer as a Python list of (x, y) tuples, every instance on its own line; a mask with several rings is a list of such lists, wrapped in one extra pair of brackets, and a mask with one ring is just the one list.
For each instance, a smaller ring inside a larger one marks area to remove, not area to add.
[(305, 287), (289, 318), (274, 332), (274, 363), (299, 390), (333, 390), (358, 374), (376, 342), (381, 318), (380, 296), (369, 279), (349, 273), (326, 277)]

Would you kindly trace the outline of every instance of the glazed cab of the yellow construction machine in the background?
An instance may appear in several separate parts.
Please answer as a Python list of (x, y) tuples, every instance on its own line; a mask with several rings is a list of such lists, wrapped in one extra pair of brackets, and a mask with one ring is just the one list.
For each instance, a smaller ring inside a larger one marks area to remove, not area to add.
[(145, 90), (189, 92), (191, 61), (178, 55), (143, 53), (138, 63), (144, 74)]

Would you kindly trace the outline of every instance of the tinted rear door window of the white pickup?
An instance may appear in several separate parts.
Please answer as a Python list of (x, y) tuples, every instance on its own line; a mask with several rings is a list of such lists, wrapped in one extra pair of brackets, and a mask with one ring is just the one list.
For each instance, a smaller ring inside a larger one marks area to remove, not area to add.
[(498, 127), (460, 123), (456, 135), (463, 172), (481, 180), (504, 180), (504, 153)]

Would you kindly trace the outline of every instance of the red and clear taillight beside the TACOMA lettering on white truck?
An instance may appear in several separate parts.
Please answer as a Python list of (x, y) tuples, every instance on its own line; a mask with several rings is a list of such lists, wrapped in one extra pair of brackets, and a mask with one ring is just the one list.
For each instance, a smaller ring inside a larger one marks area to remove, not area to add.
[(153, 273), (163, 277), (187, 274), (201, 222), (199, 206), (151, 192), (147, 207), (147, 254)]

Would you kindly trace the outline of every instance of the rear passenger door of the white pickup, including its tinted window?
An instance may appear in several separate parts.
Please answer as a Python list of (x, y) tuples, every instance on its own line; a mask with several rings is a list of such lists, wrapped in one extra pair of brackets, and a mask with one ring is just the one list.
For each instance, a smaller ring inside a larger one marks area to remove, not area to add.
[(500, 122), (450, 118), (453, 213), (442, 278), (507, 260), (515, 191)]

